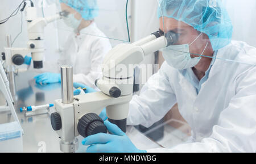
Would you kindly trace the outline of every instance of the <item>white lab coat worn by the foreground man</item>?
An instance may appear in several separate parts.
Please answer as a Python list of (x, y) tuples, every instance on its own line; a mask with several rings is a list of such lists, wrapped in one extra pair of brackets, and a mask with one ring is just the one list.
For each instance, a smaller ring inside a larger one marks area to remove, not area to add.
[[(218, 58), (256, 64), (256, 48), (240, 42)], [(150, 127), (174, 104), (192, 128), (192, 142), (147, 152), (256, 152), (256, 67), (216, 60), (197, 95), (178, 70), (164, 62), (133, 96), (127, 124)]]

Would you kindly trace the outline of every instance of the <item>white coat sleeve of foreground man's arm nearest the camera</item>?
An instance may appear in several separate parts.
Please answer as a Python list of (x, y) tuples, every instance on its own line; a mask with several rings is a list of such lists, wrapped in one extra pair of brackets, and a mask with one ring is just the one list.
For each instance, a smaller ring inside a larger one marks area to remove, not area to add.
[[(256, 68), (236, 80), (236, 95), (221, 112), (210, 137), (147, 152), (256, 152)], [(228, 86), (227, 86), (228, 87)]]

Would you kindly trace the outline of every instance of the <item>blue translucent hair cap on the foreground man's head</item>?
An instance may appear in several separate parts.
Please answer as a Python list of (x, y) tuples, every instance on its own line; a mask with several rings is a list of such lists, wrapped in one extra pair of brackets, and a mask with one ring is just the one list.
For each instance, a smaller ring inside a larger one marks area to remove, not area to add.
[(159, 3), (158, 18), (174, 18), (207, 34), (214, 51), (231, 42), (232, 22), (220, 0), (160, 0)]

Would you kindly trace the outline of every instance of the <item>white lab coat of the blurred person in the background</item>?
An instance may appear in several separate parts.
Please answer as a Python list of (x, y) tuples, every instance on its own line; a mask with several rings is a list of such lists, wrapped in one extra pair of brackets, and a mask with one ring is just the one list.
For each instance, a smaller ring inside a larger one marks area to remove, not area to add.
[(69, 36), (58, 62), (59, 65), (73, 66), (74, 82), (96, 89), (94, 82), (101, 77), (100, 66), (112, 46), (94, 22), (80, 33)]

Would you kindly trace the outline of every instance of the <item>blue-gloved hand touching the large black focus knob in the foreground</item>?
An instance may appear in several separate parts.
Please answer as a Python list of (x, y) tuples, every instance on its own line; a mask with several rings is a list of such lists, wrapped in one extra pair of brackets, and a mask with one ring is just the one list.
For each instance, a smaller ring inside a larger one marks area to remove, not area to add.
[(137, 149), (126, 134), (117, 125), (104, 121), (112, 134), (98, 133), (82, 140), (82, 145), (90, 145), (87, 153), (147, 153)]

